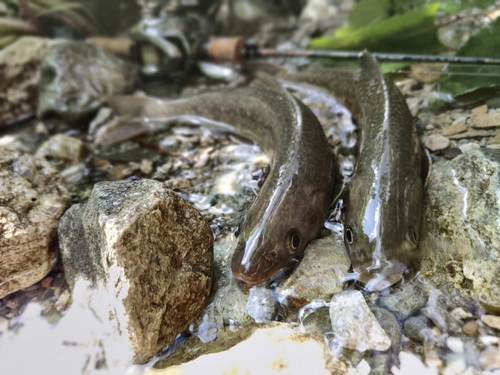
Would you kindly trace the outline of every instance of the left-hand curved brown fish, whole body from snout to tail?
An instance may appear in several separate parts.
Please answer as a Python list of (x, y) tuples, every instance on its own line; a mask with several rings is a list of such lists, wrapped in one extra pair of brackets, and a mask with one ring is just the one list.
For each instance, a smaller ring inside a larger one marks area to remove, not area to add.
[[(253, 140), (269, 156), (268, 175), (240, 226), (231, 259), (243, 288), (273, 280), (297, 264), (323, 228), (336, 176), (334, 154), (311, 110), (281, 85), (255, 82), (260, 84), (175, 100), (109, 100), (128, 129), (117, 125), (116, 134), (107, 135), (115, 140), (181, 120)], [(127, 127), (139, 117), (142, 128)]]

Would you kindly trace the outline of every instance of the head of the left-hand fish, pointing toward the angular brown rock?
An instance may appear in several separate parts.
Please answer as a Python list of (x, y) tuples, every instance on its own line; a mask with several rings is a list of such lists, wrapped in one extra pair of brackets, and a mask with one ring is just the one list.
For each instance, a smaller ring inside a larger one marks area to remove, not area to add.
[[(295, 181), (279, 185), (270, 199), (259, 195), (249, 210), (231, 260), (237, 280), (256, 285), (282, 275), (300, 262), (323, 227), (331, 191), (317, 192), (314, 183), (296, 186)], [(266, 200), (265, 209), (259, 210), (260, 199)]]

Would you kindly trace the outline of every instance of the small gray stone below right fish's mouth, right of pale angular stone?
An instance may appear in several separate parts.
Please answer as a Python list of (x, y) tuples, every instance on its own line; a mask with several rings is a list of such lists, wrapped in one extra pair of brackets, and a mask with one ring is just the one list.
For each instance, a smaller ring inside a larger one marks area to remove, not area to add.
[(379, 304), (391, 311), (399, 320), (405, 320), (427, 304), (427, 292), (419, 278), (394, 288), (392, 293), (381, 296)]

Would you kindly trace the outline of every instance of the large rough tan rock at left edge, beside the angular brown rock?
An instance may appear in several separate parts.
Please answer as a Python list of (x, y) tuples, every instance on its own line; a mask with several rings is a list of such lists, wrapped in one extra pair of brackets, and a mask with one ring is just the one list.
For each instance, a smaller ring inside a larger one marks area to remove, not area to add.
[(57, 223), (70, 202), (45, 159), (0, 147), (0, 298), (51, 270)]

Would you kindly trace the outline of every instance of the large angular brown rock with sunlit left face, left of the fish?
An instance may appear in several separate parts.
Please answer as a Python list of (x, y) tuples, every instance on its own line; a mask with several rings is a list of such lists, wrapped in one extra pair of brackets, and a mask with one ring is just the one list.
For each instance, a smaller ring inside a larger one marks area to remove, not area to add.
[(96, 184), (86, 205), (63, 216), (58, 232), (68, 283), (83, 279), (105, 290), (109, 317), (135, 363), (185, 330), (210, 292), (210, 227), (158, 181)]

